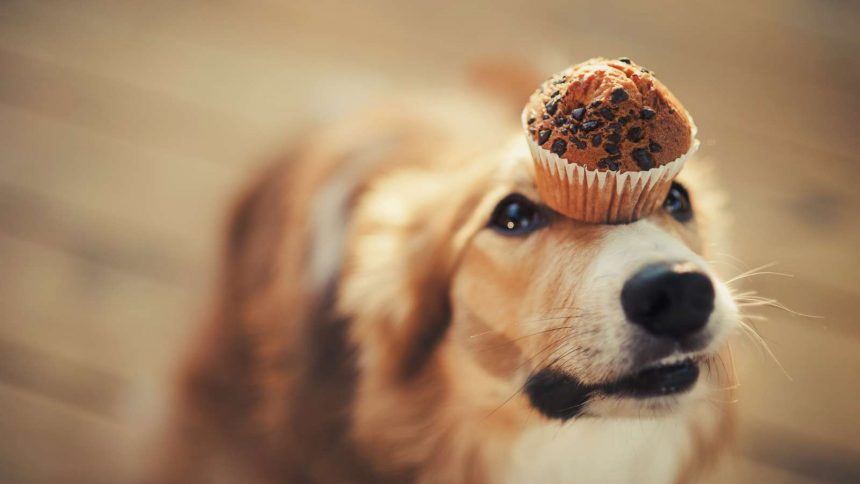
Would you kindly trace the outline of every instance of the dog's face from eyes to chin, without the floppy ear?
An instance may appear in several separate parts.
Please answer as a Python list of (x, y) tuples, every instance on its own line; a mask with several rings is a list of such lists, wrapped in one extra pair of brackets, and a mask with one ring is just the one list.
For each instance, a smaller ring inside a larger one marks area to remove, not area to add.
[(485, 223), (452, 282), (460, 341), (507, 349), (507, 373), (550, 418), (682, 405), (737, 319), (703, 258), (707, 188), (685, 173), (646, 219), (585, 224), (541, 203), (530, 168), (512, 159), (476, 210)]

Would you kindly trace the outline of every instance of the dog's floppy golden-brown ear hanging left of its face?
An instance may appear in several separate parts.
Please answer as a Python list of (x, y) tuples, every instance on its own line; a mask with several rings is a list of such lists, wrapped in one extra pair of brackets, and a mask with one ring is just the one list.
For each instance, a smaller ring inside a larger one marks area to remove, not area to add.
[(467, 185), (476, 183), (409, 172), (387, 177), (363, 197), (339, 298), (353, 319), (361, 365), (410, 378), (435, 354), (451, 320), (464, 223), (481, 193)]

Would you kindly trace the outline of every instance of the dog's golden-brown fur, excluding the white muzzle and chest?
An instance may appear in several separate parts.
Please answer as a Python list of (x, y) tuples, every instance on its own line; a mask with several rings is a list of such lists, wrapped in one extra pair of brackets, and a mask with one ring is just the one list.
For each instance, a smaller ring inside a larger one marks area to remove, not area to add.
[[(572, 316), (553, 316), (578, 306), (558, 288), (576, 284), (609, 229), (555, 215), (541, 237), (482, 230), (504, 194), (537, 198), (533, 173), (480, 149), (511, 126), (456, 112), (429, 123), (365, 114), (309, 138), (245, 191), (155, 481), (492, 481), (540, 418), (516, 392), (528, 371), (574, 340), (586, 358), (576, 371), (606, 376), (587, 364), (600, 330), (573, 325), (563, 338), (553, 328)], [(482, 135), (464, 139), (475, 126)], [(351, 177), (344, 260), (314, 289), (317, 191), (383, 146)], [(700, 227), (654, 220), (703, 249)], [(725, 434), (697, 434), (680, 478)]]

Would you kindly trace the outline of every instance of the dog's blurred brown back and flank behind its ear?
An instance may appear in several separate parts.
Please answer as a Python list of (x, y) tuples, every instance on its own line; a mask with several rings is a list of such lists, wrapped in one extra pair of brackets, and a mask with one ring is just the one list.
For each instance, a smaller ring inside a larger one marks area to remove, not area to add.
[(318, 131), (243, 191), (158, 482), (382, 480), (347, 434), (356, 370), (334, 298), (351, 210), (374, 178), (463, 142), (468, 117), (415, 111)]

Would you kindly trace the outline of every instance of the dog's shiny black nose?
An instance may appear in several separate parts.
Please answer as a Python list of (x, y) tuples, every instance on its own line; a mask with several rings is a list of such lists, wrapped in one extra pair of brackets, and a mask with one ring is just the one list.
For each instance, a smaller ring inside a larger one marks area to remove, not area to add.
[(624, 283), (621, 306), (627, 319), (650, 333), (680, 339), (707, 324), (714, 310), (714, 286), (689, 264), (659, 262)]

